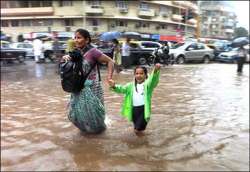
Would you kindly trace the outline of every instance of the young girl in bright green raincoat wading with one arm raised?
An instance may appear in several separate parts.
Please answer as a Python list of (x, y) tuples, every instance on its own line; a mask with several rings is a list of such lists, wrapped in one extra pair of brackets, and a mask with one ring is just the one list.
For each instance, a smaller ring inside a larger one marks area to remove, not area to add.
[(125, 94), (122, 115), (134, 123), (135, 134), (141, 135), (146, 129), (151, 115), (151, 98), (153, 89), (160, 78), (160, 64), (156, 64), (152, 73), (147, 76), (147, 69), (137, 66), (134, 69), (135, 81), (126, 85), (115, 84), (109, 80), (111, 90)]

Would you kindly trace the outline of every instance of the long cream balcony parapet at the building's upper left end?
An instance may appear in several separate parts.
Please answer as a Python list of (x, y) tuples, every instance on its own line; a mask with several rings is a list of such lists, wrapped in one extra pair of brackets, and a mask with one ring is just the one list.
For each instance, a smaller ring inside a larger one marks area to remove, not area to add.
[(53, 7), (32, 7), (32, 8), (3, 8), (1, 16), (34, 16), (34, 15), (52, 15)]

